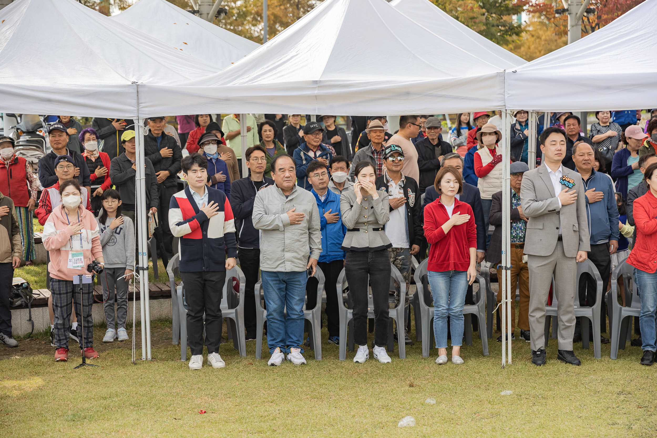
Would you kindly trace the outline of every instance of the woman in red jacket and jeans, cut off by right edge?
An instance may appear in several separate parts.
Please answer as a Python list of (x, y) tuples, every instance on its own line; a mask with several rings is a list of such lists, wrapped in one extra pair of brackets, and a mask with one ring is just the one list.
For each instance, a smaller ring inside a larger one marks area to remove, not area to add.
[(641, 297), (642, 365), (652, 365), (655, 357), (655, 318), (657, 314), (657, 163), (650, 164), (643, 174), (648, 192), (634, 200), (633, 217), (637, 241), (627, 257), (635, 267), (634, 276)]

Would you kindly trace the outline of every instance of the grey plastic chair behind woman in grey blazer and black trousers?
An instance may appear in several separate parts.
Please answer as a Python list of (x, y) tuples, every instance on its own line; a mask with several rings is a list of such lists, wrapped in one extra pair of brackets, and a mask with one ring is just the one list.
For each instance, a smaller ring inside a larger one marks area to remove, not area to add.
[[(406, 294), (406, 282), (392, 263), (390, 263), (391, 269), (391, 278), (396, 280), (399, 283), (399, 296), (403, 297)], [(340, 361), (344, 361), (347, 355), (347, 343), (349, 343), (350, 351), (353, 351), (353, 309), (351, 309), (351, 297), (350, 293), (344, 294), (342, 291), (348, 286), (346, 280), (346, 273), (344, 269), (338, 276), (338, 281), (336, 283), (336, 290), (338, 293), (338, 313), (340, 314)], [(347, 302), (348, 307), (345, 307), (344, 303)], [(397, 307), (393, 309), (388, 309), (388, 315), (390, 318), (394, 319), (397, 323), (397, 333), (398, 339), (397, 345), (399, 345), (399, 359), (406, 359), (406, 344), (403, 341), (403, 327), (404, 327), (404, 299), (399, 299)], [(367, 296), (368, 311), (367, 318), (374, 318), (374, 303), (371, 294), (368, 292)], [(347, 338), (347, 328), (349, 330), (349, 338)], [(392, 346), (394, 345), (394, 339), (392, 335), (392, 321), (388, 324), (388, 351), (392, 351)]]

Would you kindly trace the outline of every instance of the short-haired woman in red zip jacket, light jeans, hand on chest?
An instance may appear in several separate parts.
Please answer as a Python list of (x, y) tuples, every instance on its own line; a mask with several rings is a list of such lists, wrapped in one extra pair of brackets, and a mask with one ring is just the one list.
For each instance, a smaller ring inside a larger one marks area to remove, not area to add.
[(424, 208), (424, 236), (431, 245), (427, 265), (434, 296), (434, 338), (437, 364), (447, 363), (447, 316), (451, 329), (452, 363), (462, 364), (463, 305), (468, 285), (477, 276), (477, 229), (472, 208), (456, 198), (463, 192), (461, 172), (442, 167), (434, 188), (440, 197)]

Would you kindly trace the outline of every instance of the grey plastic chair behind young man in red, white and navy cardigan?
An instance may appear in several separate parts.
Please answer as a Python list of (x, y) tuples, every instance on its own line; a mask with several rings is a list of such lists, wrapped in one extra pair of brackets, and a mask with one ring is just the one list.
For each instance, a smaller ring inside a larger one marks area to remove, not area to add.
[[(240, 292), (235, 297), (233, 291), (233, 277), (236, 277), (240, 284)], [(230, 271), (226, 271), (226, 280), (223, 284), (223, 296), (221, 297), (221, 317), (231, 318), (235, 323), (235, 329), (232, 334), (233, 346), (240, 353), (240, 357), (246, 357), (246, 330), (244, 329), (244, 288), (246, 279), (240, 267), (236, 266)], [(178, 301), (178, 310), (180, 321), (187, 321), (187, 307), (185, 307), (185, 288), (181, 283), (176, 288)], [(237, 301), (237, 302), (236, 302)], [(205, 315), (203, 317), (205, 319)], [(223, 320), (222, 320), (223, 321)], [(230, 328), (230, 325), (229, 325)], [(231, 330), (229, 330), (230, 332)], [(235, 333), (237, 332), (237, 333)], [(187, 324), (180, 324), (180, 360), (187, 361)]]

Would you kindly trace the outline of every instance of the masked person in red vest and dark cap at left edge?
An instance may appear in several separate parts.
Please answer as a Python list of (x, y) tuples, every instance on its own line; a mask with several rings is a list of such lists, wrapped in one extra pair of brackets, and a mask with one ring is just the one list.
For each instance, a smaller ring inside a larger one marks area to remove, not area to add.
[(0, 137), (0, 192), (11, 198), (23, 246), (22, 259), (32, 264), (36, 258), (32, 211), (36, 206), (39, 180), (25, 158), (14, 154), (14, 139)]

